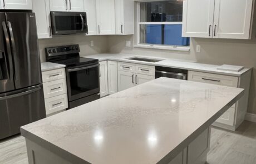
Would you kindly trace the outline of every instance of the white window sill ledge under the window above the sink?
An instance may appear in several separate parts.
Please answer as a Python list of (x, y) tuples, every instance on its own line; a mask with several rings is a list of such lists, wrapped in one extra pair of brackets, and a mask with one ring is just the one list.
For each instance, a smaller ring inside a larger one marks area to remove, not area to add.
[(152, 44), (137, 44), (134, 45), (135, 48), (151, 48), (151, 49), (164, 49), (173, 51), (190, 51), (189, 46), (161, 46)]

